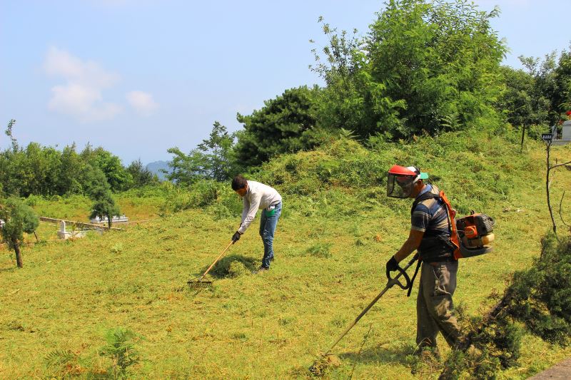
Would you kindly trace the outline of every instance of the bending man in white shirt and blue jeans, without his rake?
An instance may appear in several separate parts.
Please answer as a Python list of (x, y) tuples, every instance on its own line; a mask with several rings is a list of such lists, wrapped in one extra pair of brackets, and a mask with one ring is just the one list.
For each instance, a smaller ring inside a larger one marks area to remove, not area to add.
[(262, 209), (260, 236), (263, 242), (263, 257), (258, 271), (268, 270), (273, 260), (273, 234), (276, 232), (281, 215), (281, 195), (276, 189), (263, 183), (246, 180), (241, 175), (233, 178), (232, 190), (242, 197), (244, 204), (240, 228), (232, 235), (232, 242), (240, 240), (241, 235), (256, 217), (258, 209)]

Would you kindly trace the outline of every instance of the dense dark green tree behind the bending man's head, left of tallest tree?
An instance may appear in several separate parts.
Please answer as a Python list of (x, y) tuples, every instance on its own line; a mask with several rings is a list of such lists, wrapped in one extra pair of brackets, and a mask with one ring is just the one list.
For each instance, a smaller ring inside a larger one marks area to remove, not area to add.
[(238, 113), (238, 122), (244, 125), (235, 148), (238, 163), (255, 166), (281, 153), (318, 145), (324, 135), (315, 111), (318, 92), (306, 86), (291, 88), (251, 115)]

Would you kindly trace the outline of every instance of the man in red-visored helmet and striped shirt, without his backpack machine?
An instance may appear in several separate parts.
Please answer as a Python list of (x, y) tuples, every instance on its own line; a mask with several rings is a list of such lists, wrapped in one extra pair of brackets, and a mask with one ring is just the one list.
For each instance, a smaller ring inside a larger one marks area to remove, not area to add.
[(440, 190), (435, 185), (425, 184), (423, 180), (426, 179), (428, 173), (421, 173), (414, 166), (393, 165), (388, 171), (387, 195), (415, 201), (408, 239), (387, 262), (386, 269), (387, 272), (398, 270), (398, 263), (417, 250), (422, 265), (416, 300), (416, 353), (430, 348), (438, 356), (438, 332), (450, 346), (454, 346), (460, 337), (452, 301), (458, 260), (453, 256), (455, 246), (450, 242), (447, 206), (439, 197)]

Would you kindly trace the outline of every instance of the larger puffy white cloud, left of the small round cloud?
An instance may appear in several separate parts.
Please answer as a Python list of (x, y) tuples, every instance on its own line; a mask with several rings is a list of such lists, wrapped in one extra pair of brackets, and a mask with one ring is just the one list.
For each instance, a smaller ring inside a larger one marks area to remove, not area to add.
[(81, 61), (52, 46), (44, 61), (44, 69), (50, 76), (59, 76), (66, 82), (51, 88), (50, 110), (72, 115), (86, 123), (109, 120), (121, 112), (121, 106), (106, 103), (101, 96), (103, 89), (118, 81), (118, 76), (106, 72), (98, 63)]

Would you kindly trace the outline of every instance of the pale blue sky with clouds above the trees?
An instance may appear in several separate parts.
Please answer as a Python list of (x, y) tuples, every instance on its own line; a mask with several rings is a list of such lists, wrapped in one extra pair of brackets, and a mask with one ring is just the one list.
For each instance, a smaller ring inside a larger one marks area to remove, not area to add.
[[(477, 0), (517, 56), (568, 49), (571, 0)], [(238, 130), (308, 69), (317, 20), (366, 34), (383, 1), (0, 0), (0, 128), (21, 144), (101, 145), (128, 165), (188, 152), (219, 120)], [(9, 146), (4, 133), (0, 148)]]

